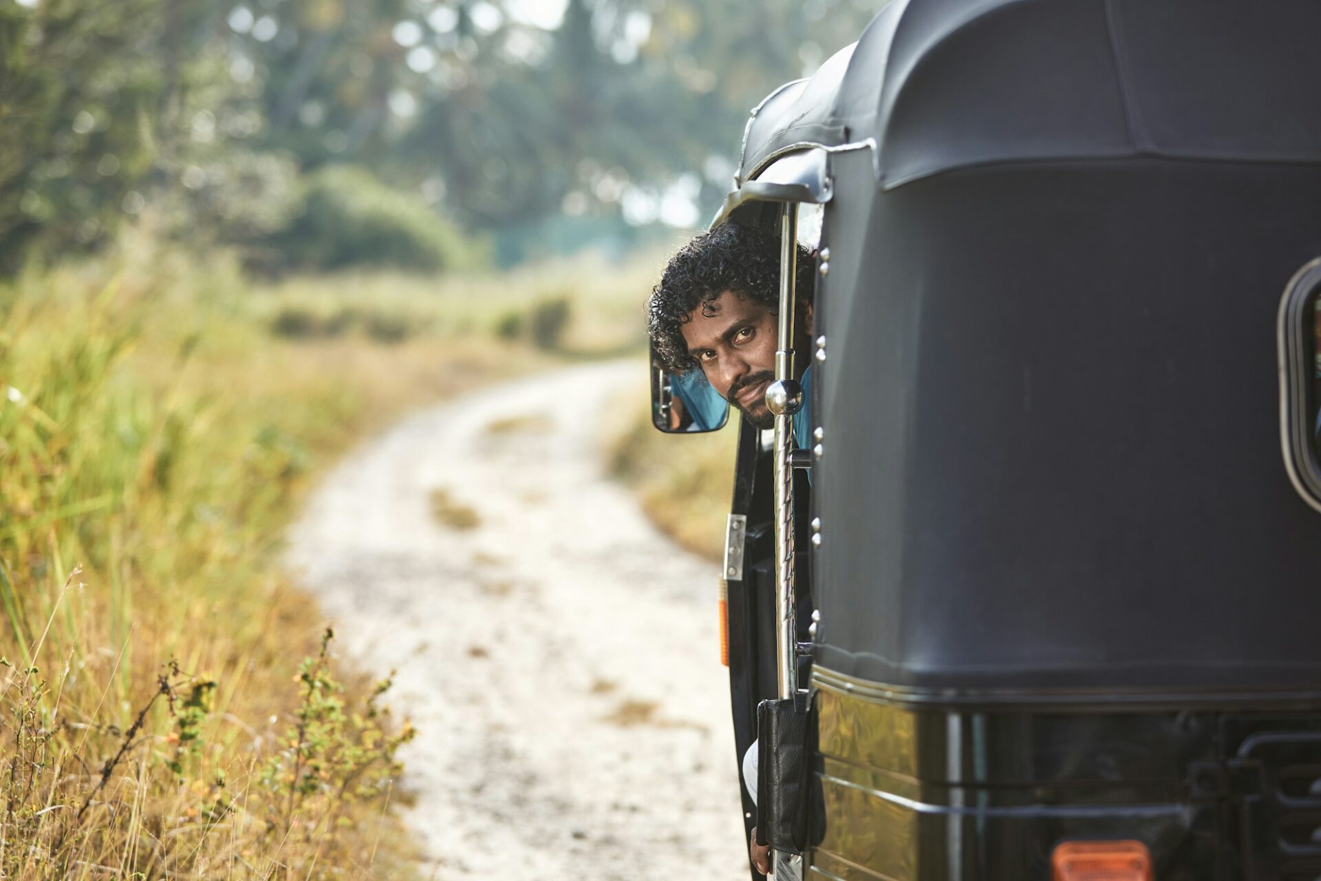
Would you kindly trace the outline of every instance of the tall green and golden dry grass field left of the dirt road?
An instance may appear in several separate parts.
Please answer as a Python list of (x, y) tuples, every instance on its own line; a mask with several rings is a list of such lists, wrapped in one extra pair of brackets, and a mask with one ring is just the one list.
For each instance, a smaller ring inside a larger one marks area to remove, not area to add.
[[(336, 664), (280, 573), (283, 528), (400, 408), (635, 347), (627, 277), (254, 289), (223, 258), (137, 242), (0, 287), (4, 876), (406, 873), (387, 806), (410, 729), (388, 683)], [(535, 337), (538, 305), (565, 297)]]

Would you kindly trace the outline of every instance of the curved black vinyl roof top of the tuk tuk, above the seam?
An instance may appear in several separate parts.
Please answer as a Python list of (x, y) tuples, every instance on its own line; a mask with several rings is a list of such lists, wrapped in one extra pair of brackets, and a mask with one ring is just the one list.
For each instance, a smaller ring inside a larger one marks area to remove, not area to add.
[(1321, 161), (1318, 25), (1312, 0), (893, 0), (754, 111), (738, 181), (868, 140), (884, 188), (987, 162)]

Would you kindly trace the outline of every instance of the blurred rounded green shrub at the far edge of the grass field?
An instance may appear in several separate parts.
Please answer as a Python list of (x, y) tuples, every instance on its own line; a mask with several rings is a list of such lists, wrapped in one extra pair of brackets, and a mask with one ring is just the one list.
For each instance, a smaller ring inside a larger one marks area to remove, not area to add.
[(388, 265), (437, 272), (486, 263), (485, 248), (420, 197), (392, 189), (371, 172), (350, 165), (330, 165), (309, 174), (301, 211), (272, 236), (269, 246), (269, 268), (284, 269)]

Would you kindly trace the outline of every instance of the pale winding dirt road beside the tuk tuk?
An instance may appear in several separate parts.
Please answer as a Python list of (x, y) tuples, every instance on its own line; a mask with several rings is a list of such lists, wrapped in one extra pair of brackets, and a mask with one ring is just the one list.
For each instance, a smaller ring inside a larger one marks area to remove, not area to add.
[(609, 482), (635, 363), (402, 423), (347, 458), (291, 564), (420, 728), (406, 818), (436, 878), (746, 878), (717, 568)]

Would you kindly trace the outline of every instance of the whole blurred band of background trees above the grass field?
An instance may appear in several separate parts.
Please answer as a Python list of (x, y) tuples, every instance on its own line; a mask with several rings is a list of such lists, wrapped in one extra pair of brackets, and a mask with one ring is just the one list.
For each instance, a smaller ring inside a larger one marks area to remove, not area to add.
[(0, 254), (144, 210), (260, 239), (338, 162), (469, 229), (707, 210), (748, 110), (882, 1), (0, 0)]

